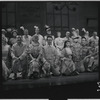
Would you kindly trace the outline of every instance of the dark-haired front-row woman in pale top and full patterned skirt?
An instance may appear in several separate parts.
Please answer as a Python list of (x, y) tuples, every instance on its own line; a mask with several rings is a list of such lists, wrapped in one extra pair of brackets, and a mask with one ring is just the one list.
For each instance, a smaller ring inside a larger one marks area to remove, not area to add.
[(75, 64), (72, 60), (72, 51), (70, 48), (70, 41), (65, 41), (64, 49), (61, 53), (61, 59), (62, 59), (62, 67), (61, 67), (61, 73), (63, 75), (77, 75), (79, 74), (76, 71)]

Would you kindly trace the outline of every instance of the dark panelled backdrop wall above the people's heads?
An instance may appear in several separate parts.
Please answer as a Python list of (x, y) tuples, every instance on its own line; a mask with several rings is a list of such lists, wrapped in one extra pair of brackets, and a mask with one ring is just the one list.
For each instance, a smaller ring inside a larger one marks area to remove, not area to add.
[(2, 28), (18, 29), (23, 25), (33, 35), (33, 27), (38, 25), (41, 34), (45, 35), (44, 25), (47, 24), (55, 36), (57, 31), (65, 36), (65, 31), (72, 27), (85, 27), (91, 35), (93, 30), (98, 31), (99, 6), (99, 2), (85, 1), (2, 2)]

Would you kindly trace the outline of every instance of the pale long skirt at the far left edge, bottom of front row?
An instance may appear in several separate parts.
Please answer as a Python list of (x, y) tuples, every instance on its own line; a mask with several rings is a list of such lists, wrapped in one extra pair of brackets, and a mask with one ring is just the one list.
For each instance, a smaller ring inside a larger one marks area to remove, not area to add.
[(7, 80), (7, 78), (9, 77), (9, 69), (7, 68), (5, 62), (2, 60), (2, 76), (4, 80)]

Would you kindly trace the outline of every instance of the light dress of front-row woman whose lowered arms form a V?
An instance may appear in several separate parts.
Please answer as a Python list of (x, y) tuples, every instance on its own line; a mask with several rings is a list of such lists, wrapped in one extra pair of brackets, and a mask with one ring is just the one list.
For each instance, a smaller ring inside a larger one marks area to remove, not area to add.
[(39, 43), (32, 42), (32, 44), (29, 45), (29, 57), (31, 59), (29, 63), (28, 76), (33, 74), (33, 72), (40, 73), (42, 46), (40, 46)]

